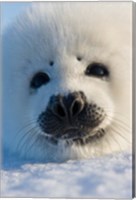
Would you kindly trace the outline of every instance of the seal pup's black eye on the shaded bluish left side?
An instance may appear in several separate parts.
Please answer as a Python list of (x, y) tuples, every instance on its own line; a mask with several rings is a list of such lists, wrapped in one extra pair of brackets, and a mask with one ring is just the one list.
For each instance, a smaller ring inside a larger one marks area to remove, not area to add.
[(30, 87), (33, 88), (33, 89), (37, 89), (40, 86), (47, 84), (49, 81), (50, 81), (50, 78), (46, 73), (38, 72), (32, 78), (31, 83), (30, 83)]

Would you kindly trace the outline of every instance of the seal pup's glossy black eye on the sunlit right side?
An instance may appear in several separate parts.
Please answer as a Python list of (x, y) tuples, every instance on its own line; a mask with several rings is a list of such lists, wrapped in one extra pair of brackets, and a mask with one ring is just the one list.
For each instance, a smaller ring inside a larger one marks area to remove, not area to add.
[(96, 76), (98, 78), (107, 78), (109, 76), (109, 71), (104, 64), (94, 62), (87, 67), (85, 74), (88, 76)]

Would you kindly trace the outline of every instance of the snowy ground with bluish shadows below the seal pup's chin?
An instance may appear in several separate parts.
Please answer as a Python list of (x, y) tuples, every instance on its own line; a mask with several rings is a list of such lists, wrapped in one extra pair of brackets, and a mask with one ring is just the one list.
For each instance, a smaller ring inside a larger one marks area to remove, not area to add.
[(4, 197), (131, 198), (129, 153), (3, 169)]

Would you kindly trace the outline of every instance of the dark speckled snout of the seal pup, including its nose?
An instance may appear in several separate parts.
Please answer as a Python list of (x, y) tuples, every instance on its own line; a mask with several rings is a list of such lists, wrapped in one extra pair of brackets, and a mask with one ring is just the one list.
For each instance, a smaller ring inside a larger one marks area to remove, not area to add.
[(55, 139), (79, 139), (94, 135), (105, 118), (104, 110), (88, 102), (81, 91), (53, 95), (38, 123), (42, 131)]

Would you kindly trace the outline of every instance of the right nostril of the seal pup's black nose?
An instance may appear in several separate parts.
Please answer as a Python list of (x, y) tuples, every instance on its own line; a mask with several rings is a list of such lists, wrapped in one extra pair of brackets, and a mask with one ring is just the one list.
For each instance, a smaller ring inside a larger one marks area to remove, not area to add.
[(81, 100), (75, 100), (71, 106), (71, 115), (75, 116), (79, 114), (83, 109), (83, 102)]

